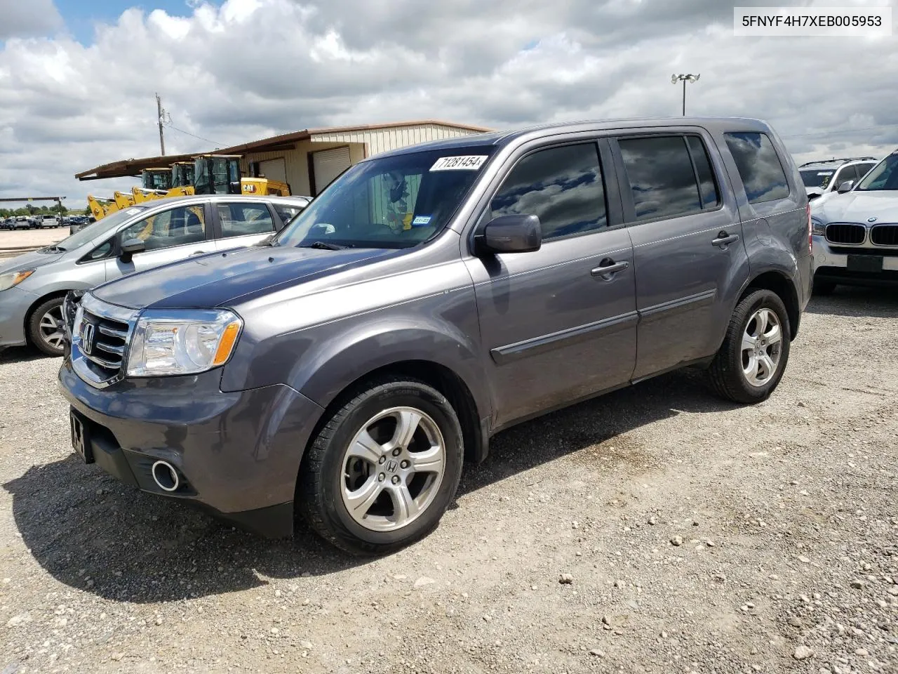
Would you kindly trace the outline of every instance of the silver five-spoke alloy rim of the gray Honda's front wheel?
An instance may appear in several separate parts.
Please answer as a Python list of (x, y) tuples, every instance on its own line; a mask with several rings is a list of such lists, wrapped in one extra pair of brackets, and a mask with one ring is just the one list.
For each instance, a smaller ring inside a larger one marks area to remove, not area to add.
[(436, 421), (414, 407), (377, 413), (343, 455), (340, 494), (352, 519), (372, 531), (408, 526), (436, 498), (445, 441)]

